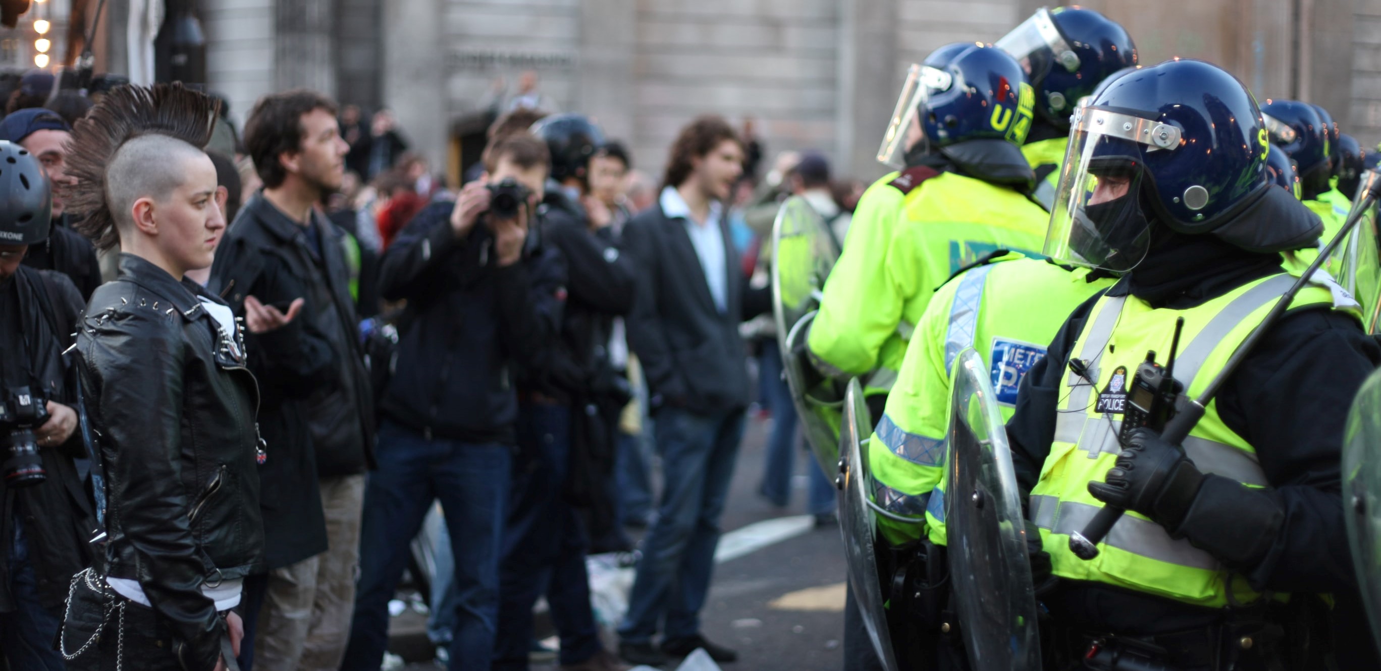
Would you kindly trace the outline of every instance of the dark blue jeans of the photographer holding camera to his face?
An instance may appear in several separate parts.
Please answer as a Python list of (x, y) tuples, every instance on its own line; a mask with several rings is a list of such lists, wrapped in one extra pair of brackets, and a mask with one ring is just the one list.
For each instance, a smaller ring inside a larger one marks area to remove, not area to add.
[(388, 601), (413, 537), (441, 500), (456, 561), (450, 668), (486, 671), (499, 627), (499, 555), (512, 450), (496, 443), (423, 438), (384, 421), (378, 469), (365, 487), (359, 587), (342, 671), (377, 671), (388, 648)]

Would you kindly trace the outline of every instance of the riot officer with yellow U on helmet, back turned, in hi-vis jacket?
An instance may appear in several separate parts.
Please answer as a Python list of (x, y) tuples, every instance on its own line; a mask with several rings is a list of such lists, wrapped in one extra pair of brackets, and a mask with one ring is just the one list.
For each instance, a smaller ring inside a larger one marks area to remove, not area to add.
[(1033, 105), (1026, 75), (996, 47), (950, 44), (911, 66), (878, 152), (905, 170), (859, 202), (808, 340), (819, 371), (866, 376), (874, 416), (935, 287), (997, 249), (1040, 246), (1045, 211), (1019, 149)]

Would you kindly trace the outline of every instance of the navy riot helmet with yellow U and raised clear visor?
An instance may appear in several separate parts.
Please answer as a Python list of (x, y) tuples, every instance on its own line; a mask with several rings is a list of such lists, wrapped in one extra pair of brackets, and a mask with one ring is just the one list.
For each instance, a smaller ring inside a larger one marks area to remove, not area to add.
[[(1034, 91), (1007, 52), (975, 43), (947, 44), (907, 73), (878, 160), (900, 167), (924, 142), (934, 150), (974, 139), (1004, 139), (1021, 148), (1032, 126)], [(918, 120), (920, 138), (911, 138)]]

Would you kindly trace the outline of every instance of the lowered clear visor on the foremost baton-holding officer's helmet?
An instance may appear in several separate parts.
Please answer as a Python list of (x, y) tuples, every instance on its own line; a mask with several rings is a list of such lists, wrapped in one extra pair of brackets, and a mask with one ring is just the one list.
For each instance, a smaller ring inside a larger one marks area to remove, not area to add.
[[(1135, 268), (1150, 250), (1150, 218), (1141, 204), (1145, 156), (1178, 146), (1179, 128), (1174, 126), (1080, 108), (1055, 191), (1044, 254), (1112, 272)], [(1185, 193), (1189, 208), (1196, 203), (1208, 203), (1206, 189), (1196, 186)]]

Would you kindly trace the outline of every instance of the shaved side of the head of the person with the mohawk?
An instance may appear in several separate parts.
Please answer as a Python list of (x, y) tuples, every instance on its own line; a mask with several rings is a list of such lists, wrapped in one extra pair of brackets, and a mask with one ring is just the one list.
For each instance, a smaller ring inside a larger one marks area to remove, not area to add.
[(191, 163), (210, 162), (206, 152), (168, 135), (139, 135), (115, 152), (105, 189), (122, 233), (134, 225), (131, 208), (141, 197), (166, 202), (188, 179)]

